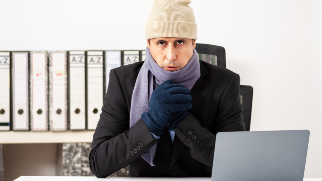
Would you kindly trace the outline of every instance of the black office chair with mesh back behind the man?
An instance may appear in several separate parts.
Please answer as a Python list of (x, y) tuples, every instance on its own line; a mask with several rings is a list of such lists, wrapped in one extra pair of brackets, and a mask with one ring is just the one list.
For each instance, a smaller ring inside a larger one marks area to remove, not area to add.
[[(226, 68), (226, 52), (222, 46), (196, 43), (195, 50), (198, 52), (199, 60)], [(253, 101), (253, 88), (249, 85), (241, 85), (242, 118), (246, 131), (251, 126), (251, 106)]]

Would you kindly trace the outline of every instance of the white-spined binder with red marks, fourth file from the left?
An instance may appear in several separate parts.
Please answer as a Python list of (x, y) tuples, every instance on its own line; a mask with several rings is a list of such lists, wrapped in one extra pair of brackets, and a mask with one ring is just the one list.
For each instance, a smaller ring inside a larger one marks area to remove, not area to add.
[(52, 131), (67, 130), (67, 52), (49, 53), (49, 124)]

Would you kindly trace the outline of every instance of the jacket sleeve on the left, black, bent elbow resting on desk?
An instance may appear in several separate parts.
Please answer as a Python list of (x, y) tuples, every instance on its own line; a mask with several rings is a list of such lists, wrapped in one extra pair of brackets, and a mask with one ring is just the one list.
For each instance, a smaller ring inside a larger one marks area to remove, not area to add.
[[(118, 77), (111, 70), (109, 87), (104, 96), (102, 113), (93, 135), (89, 156), (90, 170), (99, 178), (126, 167), (158, 142), (142, 118), (129, 128), (128, 112)], [(133, 149), (137, 146), (140, 150), (134, 153)]]

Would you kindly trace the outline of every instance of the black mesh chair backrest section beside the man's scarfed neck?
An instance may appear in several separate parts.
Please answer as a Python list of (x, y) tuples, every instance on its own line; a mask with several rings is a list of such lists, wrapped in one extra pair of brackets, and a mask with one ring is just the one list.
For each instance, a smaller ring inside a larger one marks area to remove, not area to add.
[(199, 60), (226, 68), (226, 52), (224, 47), (196, 43), (195, 49), (198, 52)]

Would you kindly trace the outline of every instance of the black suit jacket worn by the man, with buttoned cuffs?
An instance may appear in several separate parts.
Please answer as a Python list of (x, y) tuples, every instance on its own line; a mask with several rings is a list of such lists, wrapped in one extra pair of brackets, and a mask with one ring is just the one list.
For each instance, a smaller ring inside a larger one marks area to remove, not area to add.
[[(92, 173), (106, 177), (130, 164), (129, 176), (211, 177), (216, 134), (245, 131), (239, 75), (200, 61), (201, 76), (190, 93), (192, 109), (174, 129), (172, 144), (167, 130), (156, 141), (142, 118), (129, 128), (132, 93), (142, 64), (137, 62), (110, 71), (89, 156)], [(201, 146), (194, 142), (189, 131)], [(143, 147), (131, 155), (140, 144)], [(156, 166), (151, 167), (140, 156), (155, 144)]]

